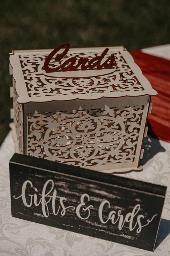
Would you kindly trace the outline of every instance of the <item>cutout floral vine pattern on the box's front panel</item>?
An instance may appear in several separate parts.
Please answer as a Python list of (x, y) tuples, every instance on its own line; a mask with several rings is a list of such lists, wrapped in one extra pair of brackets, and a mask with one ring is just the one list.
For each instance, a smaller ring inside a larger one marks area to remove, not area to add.
[[(28, 154), (88, 167), (133, 162), (143, 105), (28, 115)], [(109, 168), (109, 166), (108, 166)]]

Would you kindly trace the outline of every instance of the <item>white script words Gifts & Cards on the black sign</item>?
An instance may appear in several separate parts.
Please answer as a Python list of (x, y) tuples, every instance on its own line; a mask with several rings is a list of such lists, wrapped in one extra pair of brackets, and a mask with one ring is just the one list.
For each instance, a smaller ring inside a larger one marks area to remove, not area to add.
[[(33, 191), (33, 194), (30, 194), (31, 190)], [(40, 198), (38, 199), (37, 196)], [(15, 199), (19, 199), (20, 197), (22, 198), (23, 204), (26, 207), (31, 207), (32, 205), (38, 207), (41, 204), (42, 213), (46, 218), (49, 217), (50, 204), (51, 213), (54, 214), (54, 216), (58, 214), (64, 216), (67, 213), (67, 209), (70, 208), (72, 211), (75, 210), (77, 217), (82, 220), (87, 220), (90, 217), (90, 209), (94, 209), (93, 205), (91, 204), (85, 206), (86, 202), (90, 202), (90, 197), (86, 193), (81, 195), (80, 204), (78, 204), (77, 207), (70, 206), (70, 203), (67, 201), (66, 197), (57, 195), (57, 190), (54, 188), (54, 181), (52, 179), (48, 179), (45, 182), (42, 193), (38, 192), (38, 189), (33, 186), (30, 180), (26, 180), (22, 185), (21, 195), (18, 197), (14, 196)], [(69, 206), (66, 207), (66, 204), (69, 204)], [(108, 211), (107, 208), (111, 208), (110, 202), (108, 200), (103, 200), (98, 208), (98, 216), (102, 224), (106, 224), (107, 222), (111, 221), (112, 225), (117, 223), (118, 229), (122, 230), (126, 223), (126, 227), (128, 227), (129, 231), (136, 229), (136, 233), (140, 233), (142, 228), (149, 225), (149, 223), (152, 222), (152, 220), (157, 216), (157, 214), (153, 215), (150, 220), (147, 220), (147, 223), (145, 222), (145, 224), (142, 225), (141, 220), (145, 219), (145, 217), (143, 214), (139, 214), (139, 211), (141, 210), (140, 204), (136, 204), (125, 216), (119, 209), (117, 213), (115, 210), (111, 210), (106, 218), (106, 212)]]

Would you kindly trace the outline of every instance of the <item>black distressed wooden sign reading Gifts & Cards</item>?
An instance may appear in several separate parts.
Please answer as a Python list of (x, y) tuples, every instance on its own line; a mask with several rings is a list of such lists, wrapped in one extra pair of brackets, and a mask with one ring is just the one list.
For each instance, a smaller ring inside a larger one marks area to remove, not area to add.
[(153, 251), (166, 187), (14, 154), (12, 216)]

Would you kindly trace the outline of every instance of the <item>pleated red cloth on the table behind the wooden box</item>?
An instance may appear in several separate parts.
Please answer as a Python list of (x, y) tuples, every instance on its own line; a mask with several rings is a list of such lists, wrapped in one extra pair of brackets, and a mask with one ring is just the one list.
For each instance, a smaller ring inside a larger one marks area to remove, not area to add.
[[(143, 75), (158, 95), (152, 96), (152, 112), (148, 115), (151, 132), (158, 139), (170, 142), (170, 61), (135, 50), (130, 52)], [(152, 130), (152, 131), (151, 131)]]

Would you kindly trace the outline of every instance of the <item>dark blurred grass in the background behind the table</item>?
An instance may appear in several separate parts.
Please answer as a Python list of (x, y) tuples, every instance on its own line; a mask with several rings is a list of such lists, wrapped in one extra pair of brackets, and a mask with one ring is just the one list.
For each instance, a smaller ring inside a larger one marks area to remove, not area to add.
[(169, 0), (64, 0), (0, 3), (0, 145), (9, 132), (11, 49), (119, 46), (141, 49), (170, 42)]

